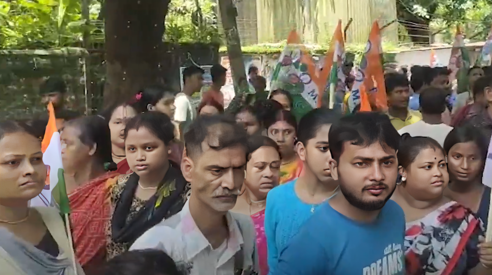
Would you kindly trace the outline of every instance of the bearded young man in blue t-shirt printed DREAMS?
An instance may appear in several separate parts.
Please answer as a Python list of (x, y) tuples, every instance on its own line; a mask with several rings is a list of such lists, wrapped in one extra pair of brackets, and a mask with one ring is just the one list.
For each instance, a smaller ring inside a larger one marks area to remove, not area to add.
[(389, 200), (400, 135), (384, 114), (361, 112), (330, 128), (340, 192), (280, 253), (274, 275), (403, 275), (405, 217)]

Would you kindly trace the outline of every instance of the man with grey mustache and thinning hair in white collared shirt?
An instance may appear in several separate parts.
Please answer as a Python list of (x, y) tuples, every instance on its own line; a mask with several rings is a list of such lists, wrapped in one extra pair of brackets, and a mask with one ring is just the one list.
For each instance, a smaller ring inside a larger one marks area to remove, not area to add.
[(130, 249), (164, 250), (184, 275), (253, 274), (258, 269), (252, 220), (229, 212), (245, 179), (246, 131), (232, 118), (201, 116), (184, 143), (181, 169), (192, 189), (188, 201)]

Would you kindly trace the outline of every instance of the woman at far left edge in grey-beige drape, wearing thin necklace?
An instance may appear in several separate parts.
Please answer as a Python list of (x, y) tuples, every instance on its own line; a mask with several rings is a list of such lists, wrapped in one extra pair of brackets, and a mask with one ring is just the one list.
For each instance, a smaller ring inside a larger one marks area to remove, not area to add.
[(0, 160), (0, 274), (84, 275), (58, 209), (28, 206), (47, 174), (35, 130), (1, 122)]

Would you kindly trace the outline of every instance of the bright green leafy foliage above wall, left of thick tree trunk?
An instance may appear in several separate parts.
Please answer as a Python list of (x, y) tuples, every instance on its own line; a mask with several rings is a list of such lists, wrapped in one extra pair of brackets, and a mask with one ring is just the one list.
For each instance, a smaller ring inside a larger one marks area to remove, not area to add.
[[(0, 49), (48, 49), (80, 43), (79, 0), (0, 0)], [(100, 3), (91, 3), (91, 20)], [(95, 27), (92, 27), (93, 30)]]

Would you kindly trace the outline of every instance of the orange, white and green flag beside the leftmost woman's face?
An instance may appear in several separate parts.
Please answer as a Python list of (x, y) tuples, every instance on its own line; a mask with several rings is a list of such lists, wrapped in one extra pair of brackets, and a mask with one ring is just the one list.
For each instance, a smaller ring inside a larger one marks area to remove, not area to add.
[(67, 214), (70, 212), (70, 206), (63, 178), (62, 140), (57, 129), (55, 109), (51, 102), (48, 105), (48, 112), (48, 125), (41, 143), (43, 162), (47, 166), (48, 175), (43, 191), (31, 199), (31, 206), (57, 206), (62, 214)]

